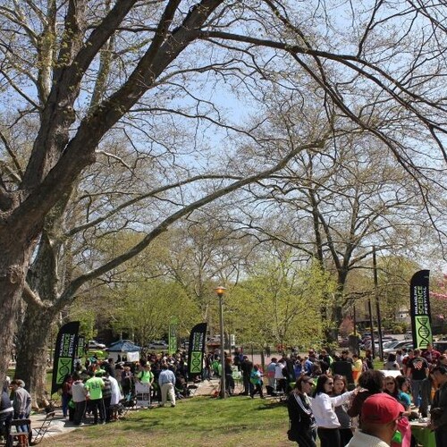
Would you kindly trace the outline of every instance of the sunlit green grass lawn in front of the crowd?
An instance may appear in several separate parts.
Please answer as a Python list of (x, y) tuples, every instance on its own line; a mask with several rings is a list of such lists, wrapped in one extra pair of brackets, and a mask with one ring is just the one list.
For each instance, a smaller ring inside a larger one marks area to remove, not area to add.
[(125, 419), (105, 426), (84, 426), (57, 435), (42, 446), (181, 447), (287, 446), (288, 416), (284, 404), (247, 396), (224, 401), (195, 397), (175, 408), (131, 410)]

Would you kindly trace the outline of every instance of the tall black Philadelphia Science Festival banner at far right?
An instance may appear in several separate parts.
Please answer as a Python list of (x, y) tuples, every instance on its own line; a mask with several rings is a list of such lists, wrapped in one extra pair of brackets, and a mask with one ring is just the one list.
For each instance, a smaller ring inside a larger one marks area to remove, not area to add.
[(416, 274), (413, 274), (409, 288), (410, 316), (415, 349), (424, 350), (429, 343), (433, 342), (428, 291), (429, 277), (429, 270), (419, 270)]

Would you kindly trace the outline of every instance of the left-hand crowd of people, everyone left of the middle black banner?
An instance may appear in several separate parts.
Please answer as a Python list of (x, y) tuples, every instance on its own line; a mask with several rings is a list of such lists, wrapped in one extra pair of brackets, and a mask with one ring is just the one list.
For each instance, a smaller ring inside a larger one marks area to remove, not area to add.
[[(150, 353), (138, 362), (114, 362), (113, 358), (99, 360), (76, 358), (74, 371), (65, 375), (58, 393), (63, 417), (75, 426), (87, 422), (106, 424), (114, 422), (122, 406), (136, 404), (136, 384), (148, 384), (150, 400), (157, 407), (189, 393), (186, 356)], [(30, 417), (31, 397), (22, 380), (6, 378), (0, 401), (0, 436), (7, 438), (13, 419)], [(19, 426), (26, 432), (27, 426)]]

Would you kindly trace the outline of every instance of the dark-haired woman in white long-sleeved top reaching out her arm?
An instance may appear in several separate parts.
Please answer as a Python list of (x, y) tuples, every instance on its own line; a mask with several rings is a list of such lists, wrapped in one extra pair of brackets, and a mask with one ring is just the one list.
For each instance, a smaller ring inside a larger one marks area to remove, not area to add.
[(329, 396), (333, 392), (333, 377), (330, 375), (319, 375), (316, 381), (314, 399), (311, 402), (314, 413), (317, 434), (320, 438), (321, 447), (341, 447), (340, 422), (335, 414), (335, 407), (350, 401), (357, 390), (343, 392), (339, 396)]

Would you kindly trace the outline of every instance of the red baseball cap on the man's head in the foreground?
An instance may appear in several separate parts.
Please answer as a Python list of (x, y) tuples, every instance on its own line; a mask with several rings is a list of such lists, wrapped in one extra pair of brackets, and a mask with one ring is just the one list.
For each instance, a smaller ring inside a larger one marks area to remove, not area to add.
[(388, 424), (405, 411), (403, 406), (386, 392), (369, 396), (363, 402), (361, 420), (373, 424)]

